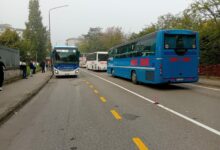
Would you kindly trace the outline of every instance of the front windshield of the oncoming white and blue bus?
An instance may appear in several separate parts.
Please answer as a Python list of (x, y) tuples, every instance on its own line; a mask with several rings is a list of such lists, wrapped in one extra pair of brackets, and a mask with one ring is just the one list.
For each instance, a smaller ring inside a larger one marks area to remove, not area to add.
[(76, 49), (56, 49), (56, 63), (78, 63), (79, 54)]

